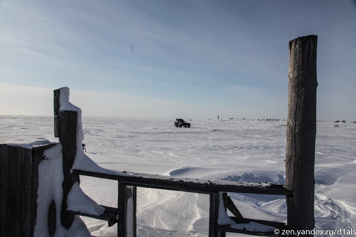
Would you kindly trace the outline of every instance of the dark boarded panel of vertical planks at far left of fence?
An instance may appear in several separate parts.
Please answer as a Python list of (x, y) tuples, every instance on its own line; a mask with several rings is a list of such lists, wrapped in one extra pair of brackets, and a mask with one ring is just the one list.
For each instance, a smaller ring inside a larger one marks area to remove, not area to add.
[[(0, 236), (33, 237), (37, 216), (38, 165), (43, 151), (55, 144), (33, 147), (0, 145)], [(51, 223), (49, 223), (49, 228)]]

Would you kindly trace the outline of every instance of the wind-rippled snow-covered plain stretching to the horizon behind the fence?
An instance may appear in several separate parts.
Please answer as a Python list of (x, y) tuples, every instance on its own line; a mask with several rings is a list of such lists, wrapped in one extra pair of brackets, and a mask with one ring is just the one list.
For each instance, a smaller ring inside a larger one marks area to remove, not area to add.
[[(0, 143), (58, 141), (53, 117), (0, 117)], [(285, 121), (193, 119), (191, 128), (176, 128), (174, 120), (83, 117), (86, 154), (120, 171), (284, 184)], [(315, 229), (355, 230), (356, 123), (319, 121), (315, 150)], [(80, 179), (97, 203), (117, 205), (117, 182)], [(286, 221), (284, 196), (229, 195), (244, 217)], [(138, 188), (137, 236), (207, 236), (208, 213), (208, 195)], [(117, 236), (116, 225), (82, 219), (92, 235)]]

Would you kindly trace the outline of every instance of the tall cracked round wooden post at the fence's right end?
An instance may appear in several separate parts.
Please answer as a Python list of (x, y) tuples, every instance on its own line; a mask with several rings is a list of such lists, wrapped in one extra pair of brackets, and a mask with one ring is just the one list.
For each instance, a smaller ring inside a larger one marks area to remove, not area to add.
[(287, 197), (287, 225), (294, 231), (313, 230), (315, 224), (317, 39), (312, 35), (289, 42), (286, 189), (293, 191)]

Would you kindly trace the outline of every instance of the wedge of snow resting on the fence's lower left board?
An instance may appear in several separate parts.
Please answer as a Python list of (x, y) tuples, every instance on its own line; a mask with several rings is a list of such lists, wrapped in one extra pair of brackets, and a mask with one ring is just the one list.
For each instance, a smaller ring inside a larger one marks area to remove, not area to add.
[(105, 208), (98, 205), (79, 187), (78, 182), (75, 182), (70, 189), (67, 197), (67, 210), (85, 213), (89, 215), (100, 216), (104, 213)]

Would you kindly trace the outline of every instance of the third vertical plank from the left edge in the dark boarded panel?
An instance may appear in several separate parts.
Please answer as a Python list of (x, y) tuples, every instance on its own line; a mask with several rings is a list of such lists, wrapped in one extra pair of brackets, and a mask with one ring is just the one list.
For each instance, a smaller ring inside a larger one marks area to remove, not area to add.
[(34, 220), (34, 204), (35, 193), (33, 188), (33, 162), (32, 149), (22, 148), (21, 155), (21, 169), (22, 169), (22, 187), (21, 187), (21, 203), (22, 203), (22, 236), (33, 237), (35, 230)]

